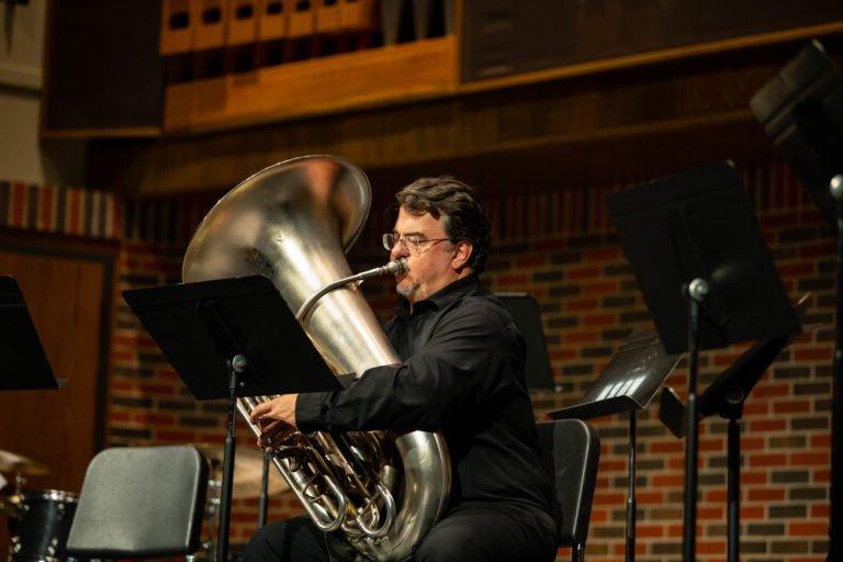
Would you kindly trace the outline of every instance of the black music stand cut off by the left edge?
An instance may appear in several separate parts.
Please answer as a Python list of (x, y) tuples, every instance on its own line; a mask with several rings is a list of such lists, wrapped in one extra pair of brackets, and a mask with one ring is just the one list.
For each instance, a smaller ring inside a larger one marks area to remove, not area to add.
[(56, 379), (14, 278), (0, 277), (0, 391), (57, 390)]

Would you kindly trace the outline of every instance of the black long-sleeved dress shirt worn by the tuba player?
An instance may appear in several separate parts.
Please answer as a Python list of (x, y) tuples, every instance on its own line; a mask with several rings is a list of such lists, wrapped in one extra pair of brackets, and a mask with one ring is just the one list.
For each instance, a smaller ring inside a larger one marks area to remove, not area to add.
[(524, 339), (497, 297), (470, 276), (412, 313), (404, 303), (385, 330), (404, 363), (369, 369), (342, 391), (300, 394), (300, 430), (441, 431), (453, 465), (451, 507), (526, 509), (552, 532)]

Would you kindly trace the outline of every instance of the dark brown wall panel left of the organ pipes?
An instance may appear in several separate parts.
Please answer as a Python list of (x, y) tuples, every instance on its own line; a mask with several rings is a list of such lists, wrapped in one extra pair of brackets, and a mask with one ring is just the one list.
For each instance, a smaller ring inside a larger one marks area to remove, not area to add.
[(50, 1), (42, 134), (160, 132), (160, 12), (150, 0)]

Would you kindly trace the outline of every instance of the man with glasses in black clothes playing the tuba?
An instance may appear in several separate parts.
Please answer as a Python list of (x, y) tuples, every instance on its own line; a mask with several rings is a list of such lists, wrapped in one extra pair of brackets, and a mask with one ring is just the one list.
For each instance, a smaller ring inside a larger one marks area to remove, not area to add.
[[(550, 479), (539, 460), (525, 345), (512, 316), (480, 285), (490, 222), (469, 186), (423, 178), (396, 194), (383, 236), (400, 307), (385, 331), (403, 363), (369, 369), (342, 391), (288, 394), (256, 406), (261, 445), (280, 432), (440, 431), (453, 462), (448, 508), (417, 561), (550, 561), (557, 553)], [(267, 525), (248, 561), (355, 560), (341, 536), (306, 516)]]

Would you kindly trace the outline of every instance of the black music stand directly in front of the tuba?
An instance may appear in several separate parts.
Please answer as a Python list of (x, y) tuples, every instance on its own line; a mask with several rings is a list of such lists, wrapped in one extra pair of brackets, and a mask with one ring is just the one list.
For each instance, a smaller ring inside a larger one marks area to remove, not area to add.
[(198, 400), (228, 398), (217, 550), (225, 562), (237, 398), (342, 386), (263, 277), (137, 289), (123, 296)]

